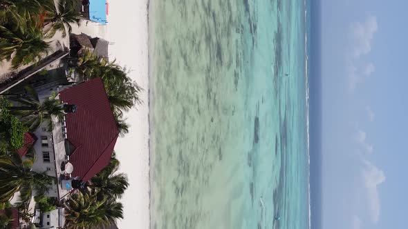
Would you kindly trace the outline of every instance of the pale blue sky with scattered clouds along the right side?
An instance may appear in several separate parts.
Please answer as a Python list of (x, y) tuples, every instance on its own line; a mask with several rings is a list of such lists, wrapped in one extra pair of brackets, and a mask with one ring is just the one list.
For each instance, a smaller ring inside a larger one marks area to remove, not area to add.
[(322, 228), (407, 228), (408, 1), (322, 1)]

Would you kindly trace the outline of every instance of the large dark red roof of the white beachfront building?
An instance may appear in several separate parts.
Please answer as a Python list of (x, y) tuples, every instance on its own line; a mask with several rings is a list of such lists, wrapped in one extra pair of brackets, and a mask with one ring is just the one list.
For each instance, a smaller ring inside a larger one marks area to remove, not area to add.
[(102, 80), (91, 79), (59, 93), (59, 98), (75, 104), (77, 111), (66, 114), (66, 133), (75, 150), (69, 157), (73, 176), (88, 181), (111, 159), (119, 130)]

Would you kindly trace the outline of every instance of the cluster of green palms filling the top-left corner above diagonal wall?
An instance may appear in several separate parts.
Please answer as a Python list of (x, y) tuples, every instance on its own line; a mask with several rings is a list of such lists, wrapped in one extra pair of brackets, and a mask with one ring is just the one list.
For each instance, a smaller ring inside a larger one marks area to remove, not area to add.
[(0, 61), (12, 63), (12, 69), (35, 63), (50, 50), (49, 41), (58, 30), (66, 36), (70, 23), (80, 23), (76, 0), (1, 0)]

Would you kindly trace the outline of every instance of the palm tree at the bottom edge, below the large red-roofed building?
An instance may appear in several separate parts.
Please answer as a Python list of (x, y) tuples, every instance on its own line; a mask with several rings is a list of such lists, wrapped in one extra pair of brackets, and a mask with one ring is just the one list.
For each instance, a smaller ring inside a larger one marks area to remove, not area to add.
[(86, 229), (109, 226), (116, 219), (123, 219), (123, 206), (115, 199), (99, 200), (96, 195), (75, 192), (64, 203), (65, 228)]

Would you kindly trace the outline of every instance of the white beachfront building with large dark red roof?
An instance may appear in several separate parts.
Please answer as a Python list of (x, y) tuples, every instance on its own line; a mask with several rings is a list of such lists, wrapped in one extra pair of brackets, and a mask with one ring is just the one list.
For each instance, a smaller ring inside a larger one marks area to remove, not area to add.
[(101, 79), (57, 91), (64, 118), (53, 117), (52, 131), (43, 123), (34, 133), (26, 133), (19, 153), (24, 155), (33, 146), (37, 156), (33, 170), (56, 178), (48, 197), (61, 200), (109, 164), (119, 130)]

